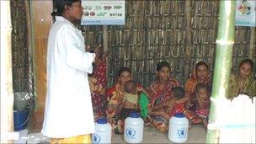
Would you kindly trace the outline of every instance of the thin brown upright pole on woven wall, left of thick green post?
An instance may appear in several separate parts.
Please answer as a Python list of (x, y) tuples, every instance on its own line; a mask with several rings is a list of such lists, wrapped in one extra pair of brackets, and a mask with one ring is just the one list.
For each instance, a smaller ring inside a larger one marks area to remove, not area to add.
[(191, 62), (191, 35), (192, 35), (192, 29), (191, 29), (191, 2), (190, 0), (185, 1), (185, 19), (186, 19), (186, 27), (185, 27), (185, 66), (184, 66), (184, 79), (189, 78), (189, 72), (190, 72), (190, 62)]

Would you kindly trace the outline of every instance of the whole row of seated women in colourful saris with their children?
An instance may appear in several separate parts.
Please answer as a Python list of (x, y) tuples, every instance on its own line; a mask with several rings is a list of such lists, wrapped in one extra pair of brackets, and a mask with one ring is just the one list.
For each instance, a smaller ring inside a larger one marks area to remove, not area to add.
[[(198, 62), (184, 88), (179, 81), (170, 77), (170, 70), (168, 62), (157, 63), (157, 77), (148, 88), (131, 80), (128, 67), (120, 68), (112, 88), (104, 89), (100, 84), (93, 84), (97, 82), (97, 77), (92, 77), (90, 82), (93, 86), (91, 93), (95, 119), (106, 117), (115, 134), (120, 134), (123, 133), (124, 120), (131, 111), (147, 109), (142, 118), (146, 125), (151, 125), (159, 132), (168, 131), (168, 120), (175, 113), (184, 113), (190, 125), (202, 123), (206, 127), (211, 95), (211, 72), (208, 65), (204, 61)], [(237, 74), (232, 74), (230, 78), (227, 92), (227, 99), (233, 99), (240, 93), (250, 98), (256, 95), (253, 61), (241, 61)], [(147, 95), (148, 103), (143, 100), (138, 102), (141, 93)], [(146, 103), (147, 108), (142, 108), (141, 103)]]

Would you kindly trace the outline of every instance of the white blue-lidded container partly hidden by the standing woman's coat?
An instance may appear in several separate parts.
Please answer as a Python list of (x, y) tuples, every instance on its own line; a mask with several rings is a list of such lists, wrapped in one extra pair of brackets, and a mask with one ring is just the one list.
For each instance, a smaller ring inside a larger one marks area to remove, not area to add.
[(111, 143), (111, 125), (105, 118), (101, 118), (95, 123), (95, 133), (92, 135), (93, 144)]

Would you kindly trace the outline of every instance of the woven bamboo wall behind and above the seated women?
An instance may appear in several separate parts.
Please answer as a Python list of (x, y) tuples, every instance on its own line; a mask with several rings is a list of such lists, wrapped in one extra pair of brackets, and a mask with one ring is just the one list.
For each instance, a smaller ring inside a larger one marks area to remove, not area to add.
[[(191, 1), (192, 45), (189, 69), (206, 61), (213, 71), (218, 24), (218, 1)], [(125, 2), (125, 25), (108, 26), (108, 79), (115, 83), (120, 67), (130, 67), (136, 81), (148, 86), (156, 77), (159, 61), (168, 61), (172, 77), (184, 84), (185, 56), (184, 1), (147, 0)], [(83, 26), (89, 45), (102, 43), (102, 26)], [(250, 29), (237, 27), (233, 68), (248, 57)], [(254, 40), (255, 41), (255, 40)], [(253, 61), (256, 61), (253, 47)]]

